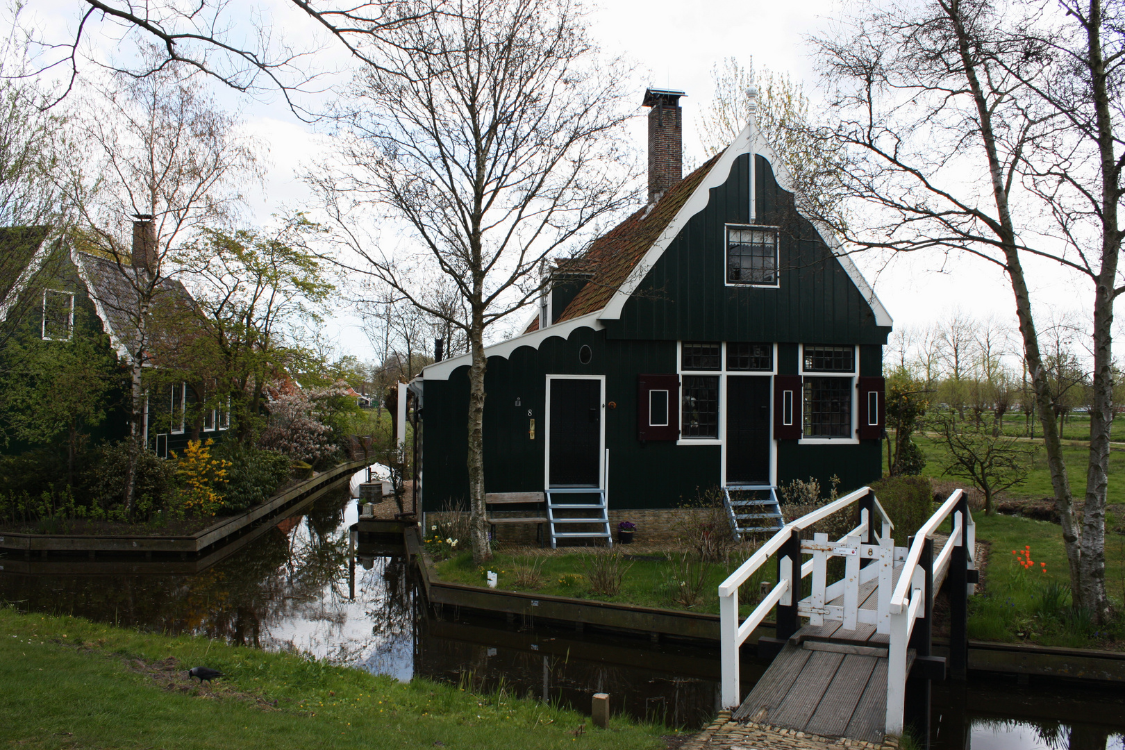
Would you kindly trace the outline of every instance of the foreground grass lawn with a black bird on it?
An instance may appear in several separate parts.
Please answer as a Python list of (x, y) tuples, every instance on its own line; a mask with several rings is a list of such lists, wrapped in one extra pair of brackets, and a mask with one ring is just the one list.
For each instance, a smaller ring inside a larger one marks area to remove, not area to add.
[[(227, 677), (192, 685), (197, 665)], [(600, 730), (503, 693), (10, 608), (0, 608), (0, 683), (3, 747), (655, 750), (672, 733), (620, 717)]]

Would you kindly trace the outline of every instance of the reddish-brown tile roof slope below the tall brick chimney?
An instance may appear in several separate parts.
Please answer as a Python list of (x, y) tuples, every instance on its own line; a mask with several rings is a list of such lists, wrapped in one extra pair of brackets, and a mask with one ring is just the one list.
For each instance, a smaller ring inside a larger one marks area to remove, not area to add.
[[(560, 270), (583, 271), (592, 273), (586, 286), (575, 296), (557, 323), (594, 313), (605, 307), (613, 293), (624, 283), (632, 270), (637, 268), (645, 253), (667, 228), (687, 199), (706, 177), (711, 166), (721, 154), (709, 159), (694, 172), (672, 186), (657, 201), (656, 206), (646, 206), (594, 241), (585, 253), (560, 263)], [(536, 318), (524, 333), (539, 329)]]

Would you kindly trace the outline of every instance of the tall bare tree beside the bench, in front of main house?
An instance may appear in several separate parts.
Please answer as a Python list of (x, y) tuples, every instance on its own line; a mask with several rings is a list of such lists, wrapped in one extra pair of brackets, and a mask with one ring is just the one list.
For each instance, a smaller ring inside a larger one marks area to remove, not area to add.
[[(438, 6), (431, 6), (436, 10)], [(539, 293), (540, 261), (628, 205), (618, 134), (626, 71), (596, 56), (566, 0), (464, 0), (404, 26), (352, 87), (340, 169), (314, 180), (357, 271), (392, 287), (469, 342), (467, 461), (474, 559), (485, 523), (485, 337)], [(393, 254), (363, 238), (381, 209), (410, 235)], [(440, 272), (464, 304), (434, 299)]]

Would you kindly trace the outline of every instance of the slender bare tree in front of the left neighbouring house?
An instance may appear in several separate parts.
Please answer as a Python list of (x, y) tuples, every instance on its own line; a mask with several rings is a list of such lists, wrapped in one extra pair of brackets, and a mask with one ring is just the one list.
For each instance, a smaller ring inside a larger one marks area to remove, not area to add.
[(230, 215), (240, 200), (232, 186), (256, 173), (256, 161), (236, 121), (180, 66), (142, 79), (118, 75), (98, 93), (81, 124), (90, 161), (75, 165), (65, 188), (79, 207), (82, 245), (94, 251), (91, 293), (130, 368), (128, 509), (144, 435), (152, 313), (174, 305), (180, 289), (169, 254)]

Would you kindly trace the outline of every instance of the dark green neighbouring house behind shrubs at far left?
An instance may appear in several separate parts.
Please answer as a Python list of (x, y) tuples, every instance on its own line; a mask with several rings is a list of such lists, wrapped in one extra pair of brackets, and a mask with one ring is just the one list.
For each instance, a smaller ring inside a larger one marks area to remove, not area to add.
[[(104, 380), (114, 383), (104, 399), (105, 418), (87, 431), (94, 442), (129, 434), (127, 370), (130, 352), (137, 349), (136, 287), (141, 286), (130, 282), (130, 275), (134, 282), (151, 280), (155, 264), (152, 219), (138, 217), (134, 224), (132, 256), (125, 263), (78, 250), (46, 227), (0, 227), (0, 343), (8, 347), (4, 351), (46, 358), (38, 360), (45, 363), (62, 346), (79, 340), (87, 345), (91, 359), (104, 365)], [(161, 279), (158, 286), (187, 311), (191, 297), (183, 284)], [(89, 381), (91, 373), (83, 377)], [(151, 450), (166, 457), (171, 450), (182, 450), (191, 436), (184, 415), (191, 413), (196, 397), (188, 383), (160, 390), (147, 395), (144, 439)], [(218, 410), (198, 419), (204, 436), (230, 426), (228, 415)], [(27, 441), (9, 440), (0, 450), (17, 454), (28, 448)]]

